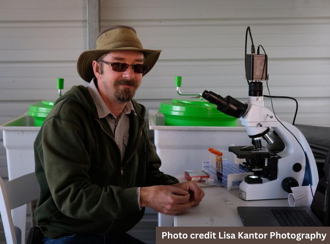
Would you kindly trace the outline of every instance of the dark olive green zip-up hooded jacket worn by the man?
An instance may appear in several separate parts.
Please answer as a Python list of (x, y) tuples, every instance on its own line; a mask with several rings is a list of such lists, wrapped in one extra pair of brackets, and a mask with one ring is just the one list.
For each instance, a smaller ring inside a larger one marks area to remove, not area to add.
[(46, 236), (124, 233), (144, 214), (137, 187), (178, 182), (159, 171), (146, 109), (132, 103), (137, 115), (129, 114), (121, 160), (110, 125), (98, 118), (86, 87), (74, 86), (56, 101), (34, 142), (41, 193), (33, 218)]

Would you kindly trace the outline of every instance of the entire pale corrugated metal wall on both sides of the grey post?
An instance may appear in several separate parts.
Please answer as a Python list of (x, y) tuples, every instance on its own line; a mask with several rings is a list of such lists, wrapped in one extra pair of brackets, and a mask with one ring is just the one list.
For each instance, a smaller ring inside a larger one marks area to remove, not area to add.
[[(247, 100), (243, 57), (249, 25), (255, 44), (269, 56), (271, 95), (297, 98), (296, 123), (330, 126), (330, 1), (101, 0), (100, 6), (102, 30), (129, 25), (144, 47), (163, 50), (136, 94), (147, 110), (178, 97), (175, 75), (183, 76), (182, 92), (208, 89)], [(84, 84), (76, 61), (85, 49), (86, 1), (2, 0), (0, 123), (26, 112), (31, 103), (55, 99), (57, 77), (65, 78), (65, 91)], [(294, 102), (273, 102), (278, 117), (291, 122)], [(265, 105), (270, 107), (268, 98)], [(6, 177), (2, 134), (0, 145), (0, 176)]]

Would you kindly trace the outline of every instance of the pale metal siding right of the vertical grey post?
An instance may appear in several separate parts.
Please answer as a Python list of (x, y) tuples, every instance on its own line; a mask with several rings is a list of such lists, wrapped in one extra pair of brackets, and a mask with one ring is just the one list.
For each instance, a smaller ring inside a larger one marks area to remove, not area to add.
[[(182, 75), (182, 92), (207, 89), (246, 101), (249, 25), (254, 43), (269, 57), (271, 95), (297, 98), (296, 123), (324, 126), (330, 126), (329, 16), (330, 2), (319, 0), (139, 1), (138, 7), (128, 0), (101, 1), (102, 29), (133, 26), (144, 47), (163, 50), (136, 98), (153, 99), (154, 107), (159, 99), (177, 98), (174, 76)], [(291, 122), (295, 103), (273, 101), (279, 118)], [(269, 98), (265, 105), (270, 107)]]

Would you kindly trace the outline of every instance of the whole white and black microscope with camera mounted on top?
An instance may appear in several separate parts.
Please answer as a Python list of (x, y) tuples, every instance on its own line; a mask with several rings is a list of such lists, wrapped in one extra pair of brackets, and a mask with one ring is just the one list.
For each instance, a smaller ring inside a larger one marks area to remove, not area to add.
[[(259, 54), (259, 50), (257, 54), (246, 54), (246, 77), (249, 84), (246, 103), (211, 91), (205, 90), (202, 94), (216, 104), (219, 111), (239, 118), (251, 138), (252, 145), (229, 147), (229, 151), (245, 159), (245, 167), (254, 172), (241, 182), (240, 197), (244, 200), (281, 199), (288, 197), (291, 187), (317, 185), (316, 162), (304, 135), (264, 107), (262, 80), (268, 80), (266, 54)], [(261, 138), (268, 145), (274, 143), (271, 129), (284, 143), (280, 152), (261, 145)]]

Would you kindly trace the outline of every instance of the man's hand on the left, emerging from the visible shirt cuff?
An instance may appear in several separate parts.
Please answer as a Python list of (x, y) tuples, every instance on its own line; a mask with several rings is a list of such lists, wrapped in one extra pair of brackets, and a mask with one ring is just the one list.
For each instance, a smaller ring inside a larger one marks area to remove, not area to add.
[(141, 207), (148, 206), (162, 214), (178, 215), (195, 204), (182, 187), (156, 185), (140, 189)]

